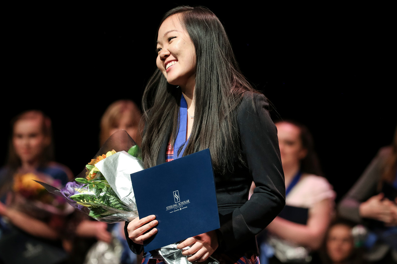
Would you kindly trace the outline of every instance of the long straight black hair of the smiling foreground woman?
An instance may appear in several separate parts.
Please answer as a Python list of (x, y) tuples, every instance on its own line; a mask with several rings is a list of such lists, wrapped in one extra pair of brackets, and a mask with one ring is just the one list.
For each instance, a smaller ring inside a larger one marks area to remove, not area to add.
[[(209, 148), (214, 169), (221, 173), (232, 171), (236, 158), (243, 161), (235, 109), (243, 93), (254, 90), (239, 70), (218, 17), (204, 7), (179, 6), (168, 11), (160, 25), (177, 13), (196, 51), (195, 120), (183, 155)], [(146, 168), (156, 165), (160, 146), (170, 128), (170, 143), (175, 143), (180, 98), (180, 89), (168, 84), (157, 69), (142, 99), (146, 122), (142, 154)]]

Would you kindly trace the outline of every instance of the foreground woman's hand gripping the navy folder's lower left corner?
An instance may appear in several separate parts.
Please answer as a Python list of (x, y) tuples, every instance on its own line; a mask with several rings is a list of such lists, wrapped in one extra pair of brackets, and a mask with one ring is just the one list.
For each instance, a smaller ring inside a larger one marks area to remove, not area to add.
[[(158, 224), (157, 220), (154, 220), (156, 216), (150, 215), (142, 219), (138, 217), (132, 220), (128, 226), (128, 237), (136, 244), (143, 245), (143, 241), (157, 233), (157, 228), (153, 228)], [(153, 228), (150, 230), (150, 228)], [(150, 232), (145, 233), (150, 230)]]

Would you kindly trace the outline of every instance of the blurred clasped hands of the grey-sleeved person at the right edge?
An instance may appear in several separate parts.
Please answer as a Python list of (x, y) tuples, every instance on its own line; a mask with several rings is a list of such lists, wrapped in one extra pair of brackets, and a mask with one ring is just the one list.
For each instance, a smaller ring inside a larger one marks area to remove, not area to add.
[(388, 226), (397, 224), (396, 204), (384, 199), (384, 194), (372, 196), (360, 204), (360, 216), (384, 222)]

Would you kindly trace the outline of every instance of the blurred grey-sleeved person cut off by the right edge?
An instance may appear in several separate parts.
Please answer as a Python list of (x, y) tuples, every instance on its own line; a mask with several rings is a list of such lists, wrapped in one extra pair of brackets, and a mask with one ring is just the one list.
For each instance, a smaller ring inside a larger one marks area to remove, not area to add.
[(363, 224), (370, 263), (397, 263), (397, 128), (340, 201), (341, 217)]

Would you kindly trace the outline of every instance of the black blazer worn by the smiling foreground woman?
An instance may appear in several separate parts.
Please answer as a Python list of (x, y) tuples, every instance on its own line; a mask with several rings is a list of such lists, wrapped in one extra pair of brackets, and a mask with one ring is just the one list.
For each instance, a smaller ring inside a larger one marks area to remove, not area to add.
[[(246, 92), (237, 111), (241, 153), (245, 165), (236, 164), (233, 173), (215, 174), (220, 245), (214, 254), (227, 254), (231, 261), (258, 253), (255, 235), (278, 215), (285, 205), (285, 183), (281, 166), (277, 129), (262, 94)], [(165, 162), (169, 136), (164, 138), (157, 164)], [(251, 183), (256, 188), (248, 200)], [(131, 250), (139, 254), (143, 246), (125, 235)]]

